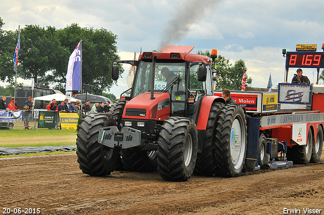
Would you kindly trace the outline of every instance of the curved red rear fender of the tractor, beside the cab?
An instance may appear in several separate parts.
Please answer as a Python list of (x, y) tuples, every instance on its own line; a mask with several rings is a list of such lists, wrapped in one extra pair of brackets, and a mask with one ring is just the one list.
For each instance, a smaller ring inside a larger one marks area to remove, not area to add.
[(205, 96), (203, 101), (200, 103), (199, 112), (197, 114), (197, 130), (206, 130), (209, 113), (214, 101), (226, 104), (222, 97)]

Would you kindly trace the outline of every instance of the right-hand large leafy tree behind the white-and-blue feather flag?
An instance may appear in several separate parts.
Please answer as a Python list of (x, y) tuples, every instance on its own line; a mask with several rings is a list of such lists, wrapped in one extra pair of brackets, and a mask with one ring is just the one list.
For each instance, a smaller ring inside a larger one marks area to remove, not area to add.
[[(92, 92), (101, 95), (109, 90), (113, 82), (111, 78), (111, 62), (119, 60), (116, 47), (117, 36), (106, 29), (81, 28), (72, 24), (56, 32), (60, 45), (66, 53), (57, 55), (58, 61), (53, 71), (44, 79), (56, 84), (57, 89), (65, 92), (68, 57), (82, 39), (82, 79), (84, 84), (92, 84)], [(120, 74), (124, 69), (120, 66)]]

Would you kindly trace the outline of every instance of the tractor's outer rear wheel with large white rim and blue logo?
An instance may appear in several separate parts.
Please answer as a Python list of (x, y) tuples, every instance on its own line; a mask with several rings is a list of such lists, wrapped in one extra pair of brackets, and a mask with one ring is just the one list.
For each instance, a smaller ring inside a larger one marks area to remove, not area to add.
[(216, 128), (215, 160), (222, 177), (241, 174), (247, 151), (247, 123), (239, 105), (226, 105), (219, 115)]

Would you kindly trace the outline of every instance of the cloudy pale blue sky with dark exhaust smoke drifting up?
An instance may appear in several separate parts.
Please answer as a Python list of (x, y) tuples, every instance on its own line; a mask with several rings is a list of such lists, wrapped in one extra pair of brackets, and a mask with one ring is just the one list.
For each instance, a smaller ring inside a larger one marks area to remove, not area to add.
[[(165, 45), (194, 46), (192, 53), (217, 49), (232, 63), (244, 60), (252, 87), (266, 88), (270, 73), (274, 86), (285, 79), (282, 49), (314, 44), (322, 51), (323, 8), (322, 0), (2, 0), (0, 17), (4, 30), (29, 24), (59, 29), (72, 23), (105, 28), (117, 35), (122, 60)], [(127, 90), (129, 66), (124, 68), (124, 78), (110, 91), (117, 98)], [(289, 81), (295, 71), (290, 69)], [(316, 69), (303, 71), (316, 81)]]

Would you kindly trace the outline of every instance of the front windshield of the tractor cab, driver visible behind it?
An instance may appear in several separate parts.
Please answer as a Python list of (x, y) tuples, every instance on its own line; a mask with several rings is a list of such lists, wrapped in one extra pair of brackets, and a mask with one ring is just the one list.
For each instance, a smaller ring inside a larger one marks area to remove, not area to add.
[[(137, 77), (134, 82), (134, 97), (151, 91), (152, 62), (141, 61), (138, 66)], [(184, 89), (185, 63), (155, 63), (154, 91), (167, 90), (167, 85), (177, 81), (180, 77)]]

